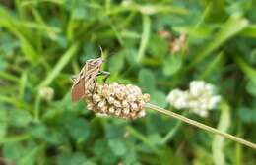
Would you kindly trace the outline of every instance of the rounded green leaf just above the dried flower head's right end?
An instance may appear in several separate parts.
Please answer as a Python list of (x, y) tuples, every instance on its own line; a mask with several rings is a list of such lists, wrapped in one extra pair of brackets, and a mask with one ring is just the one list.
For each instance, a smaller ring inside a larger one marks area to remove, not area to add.
[(139, 72), (139, 85), (143, 91), (151, 92), (155, 89), (156, 79), (154, 74), (147, 69), (142, 69)]

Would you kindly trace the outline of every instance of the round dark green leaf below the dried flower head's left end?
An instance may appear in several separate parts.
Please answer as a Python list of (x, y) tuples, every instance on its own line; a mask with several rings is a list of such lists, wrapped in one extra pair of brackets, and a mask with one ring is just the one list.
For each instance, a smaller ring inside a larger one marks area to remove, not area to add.
[(86, 120), (76, 118), (66, 125), (69, 134), (75, 140), (85, 140), (90, 135), (90, 127)]

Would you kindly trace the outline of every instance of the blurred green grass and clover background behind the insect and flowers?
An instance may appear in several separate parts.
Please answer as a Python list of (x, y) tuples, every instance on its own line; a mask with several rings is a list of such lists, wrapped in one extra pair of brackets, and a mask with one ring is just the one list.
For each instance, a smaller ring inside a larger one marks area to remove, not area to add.
[(0, 145), (6, 161), (256, 163), (255, 150), (160, 114), (149, 111), (136, 121), (99, 118), (70, 98), (71, 75), (100, 56), (101, 46), (108, 82), (137, 84), (161, 107), (168, 108), (165, 97), (173, 88), (193, 80), (215, 84), (225, 104), (208, 118), (186, 115), (256, 142), (255, 0), (0, 2)]

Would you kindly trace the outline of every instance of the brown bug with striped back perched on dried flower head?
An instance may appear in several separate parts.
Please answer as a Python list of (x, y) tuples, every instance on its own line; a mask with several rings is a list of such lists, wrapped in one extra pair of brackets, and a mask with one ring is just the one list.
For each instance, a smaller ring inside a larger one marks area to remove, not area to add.
[(94, 93), (96, 87), (96, 77), (105, 76), (103, 79), (104, 83), (109, 77), (110, 73), (106, 71), (100, 71), (101, 65), (103, 64), (102, 58), (87, 60), (85, 66), (82, 68), (78, 76), (72, 78), (73, 86), (71, 88), (72, 101), (77, 102), (83, 98), (87, 90), (92, 90)]

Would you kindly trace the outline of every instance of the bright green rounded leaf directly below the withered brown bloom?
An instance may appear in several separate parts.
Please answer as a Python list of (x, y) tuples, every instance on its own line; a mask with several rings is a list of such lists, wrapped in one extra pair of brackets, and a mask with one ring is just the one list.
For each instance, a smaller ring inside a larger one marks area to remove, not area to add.
[(182, 58), (180, 56), (170, 56), (163, 62), (163, 74), (172, 76), (182, 67)]

